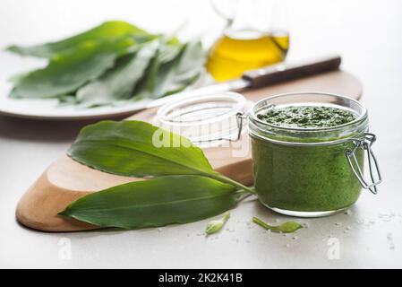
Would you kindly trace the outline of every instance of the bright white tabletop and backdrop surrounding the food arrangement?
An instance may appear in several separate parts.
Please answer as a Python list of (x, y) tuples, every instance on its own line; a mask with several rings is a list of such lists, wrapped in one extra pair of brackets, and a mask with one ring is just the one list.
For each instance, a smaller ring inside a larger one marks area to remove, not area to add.
[[(2, 0), (0, 46), (60, 38), (106, 19), (162, 31), (187, 20), (186, 32), (206, 41), (221, 25), (205, 0), (100, 2)], [(350, 214), (300, 220), (309, 228), (299, 230), (296, 239), (269, 238), (250, 224), (253, 215), (270, 222), (289, 219), (255, 201), (240, 204), (228, 230), (209, 239), (200, 235), (207, 220), (159, 230), (28, 230), (14, 218), (19, 198), (84, 123), (0, 117), (0, 267), (402, 267), (402, 2), (295, 0), (287, 5), (290, 57), (338, 51), (343, 67), (364, 83), (363, 102), (378, 135), (373, 149), (384, 178), (378, 196), (364, 192)], [(7, 73), (1, 63), (0, 73)], [(338, 242), (338, 258), (333, 242)]]

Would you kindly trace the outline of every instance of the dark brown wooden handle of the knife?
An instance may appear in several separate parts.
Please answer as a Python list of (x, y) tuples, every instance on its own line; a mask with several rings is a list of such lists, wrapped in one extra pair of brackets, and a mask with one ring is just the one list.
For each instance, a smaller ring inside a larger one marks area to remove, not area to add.
[(339, 56), (321, 57), (295, 64), (281, 63), (247, 71), (243, 74), (243, 78), (251, 83), (252, 88), (259, 88), (304, 76), (338, 70), (340, 63), (341, 58)]

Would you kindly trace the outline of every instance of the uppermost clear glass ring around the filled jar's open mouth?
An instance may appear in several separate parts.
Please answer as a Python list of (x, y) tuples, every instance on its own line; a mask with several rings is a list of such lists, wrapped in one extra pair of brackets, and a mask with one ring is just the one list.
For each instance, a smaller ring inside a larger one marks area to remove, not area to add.
[[(350, 100), (352, 102), (354, 102), (360, 109), (362, 109), (361, 114), (356, 117), (354, 120), (347, 122), (345, 124), (342, 125), (338, 125), (338, 126), (324, 126), (324, 127), (291, 127), (291, 126), (277, 126), (277, 125), (273, 125), (270, 123), (267, 123), (263, 120), (261, 120), (260, 118), (257, 117), (257, 115), (255, 114), (254, 108), (258, 107), (261, 102), (267, 101), (267, 100), (274, 100), (280, 97), (284, 97), (284, 96), (296, 96), (296, 95), (324, 95), (324, 96), (332, 96), (332, 97), (337, 97), (340, 99), (344, 99), (344, 100)], [(283, 130), (283, 131), (292, 131), (292, 132), (325, 132), (325, 131), (337, 131), (338, 129), (343, 129), (346, 126), (353, 126), (359, 122), (364, 121), (368, 116), (367, 113), (367, 109), (358, 101), (355, 99), (352, 99), (350, 97), (344, 96), (344, 95), (339, 95), (336, 93), (330, 93), (330, 92), (320, 92), (320, 91), (301, 91), (301, 92), (286, 92), (286, 93), (280, 93), (277, 95), (273, 95), (273, 96), (269, 96), (267, 98), (261, 99), (257, 102), (255, 102), (252, 105), (252, 109), (250, 109), (249, 113), (248, 113), (248, 117), (251, 117), (252, 120), (260, 123), (261, 125), (265, 125), (265, 126), (270, 126), (273, 128), (276, 128), (278, 130)]]

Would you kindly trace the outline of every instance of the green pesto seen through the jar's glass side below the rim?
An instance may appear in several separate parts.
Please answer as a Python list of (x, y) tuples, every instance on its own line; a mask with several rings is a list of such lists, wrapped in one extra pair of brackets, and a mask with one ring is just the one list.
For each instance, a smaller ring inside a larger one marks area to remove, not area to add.
[[(297, 107), (298, 111), (290, 113), (296, 115), (302, 113), (301, 110), (306, 110), (299, 108)], [(315, 113), (321, 109), (311, 110)], [(335, 112), (337, 115), (343, 114)], [(326, 113), (319, 114), (324, 117)], [(318, 116), (307, 117), (312, 118), (312, 124), (307, 121), (303, 123), (303, 127), (318, 125)], [(322, 125), (330, 125), (331, 120), (326, 116), (324, 118)], [(350, 121), (349, 119), (343, 117), (341, 122)], [(287, 141), (280, 136), (275, 136), (275, 140)], [(320, 139), (317, 140), (320, 142)], [(298, 142), (311, 143), (311, 139), (298, 138)], [(254, 184), (261, 203), (298, 212), (334, 211), (354, 204), (360, 196), (361, 186), (346, 160), (346, 148), (351, 147), (350, 142), (315, 146), (287, 145), (252, 136)], [(356, 158), (363, 167), (362, 150), (356, 151)]]

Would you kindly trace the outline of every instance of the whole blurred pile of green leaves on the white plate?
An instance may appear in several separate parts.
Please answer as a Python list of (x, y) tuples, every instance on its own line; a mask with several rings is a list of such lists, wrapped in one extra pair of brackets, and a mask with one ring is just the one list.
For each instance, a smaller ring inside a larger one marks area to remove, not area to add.
[(84, 107), (182, 91), (197, 80), (205, 61), (200, 41), (181, 43), (118, 21), (57, 42), (7, 49), (48, 59), (46, 67), (13, 77), (10, 97)]

